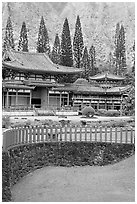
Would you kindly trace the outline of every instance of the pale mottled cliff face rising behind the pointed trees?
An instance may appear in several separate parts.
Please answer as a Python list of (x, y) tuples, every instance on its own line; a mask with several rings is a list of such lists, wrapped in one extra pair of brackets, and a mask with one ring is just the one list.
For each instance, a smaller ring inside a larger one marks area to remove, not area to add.
[(127, 65), (131, 66), (130, 54), (135, 39), (135, 3), (130, 2), (5, 2), (2, 4), (3, 36), (7, 17), (11, 16), (14, 38), (18, 44), (22, 22), (28, 28), (29, 50), (36, 49), (41, 16), (44, 16), (51, 46), (55, 34), (61, 36), (64, 19), (67, 17), (73, 40), (77, 15), (80, 16), (84, 43), (93, 44), (97, 53), (97, 64), (105, 64), (109, 52), (114, 50), (116, 24), (124, 25), (126, 32)]

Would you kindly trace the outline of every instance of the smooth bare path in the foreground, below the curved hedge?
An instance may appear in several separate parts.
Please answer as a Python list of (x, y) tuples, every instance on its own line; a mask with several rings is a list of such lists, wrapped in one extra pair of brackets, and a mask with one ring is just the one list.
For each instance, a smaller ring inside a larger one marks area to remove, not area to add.
[(134, 202), (135, 157), (105, 167), (45, 167), (12, 189), (14, 202)]

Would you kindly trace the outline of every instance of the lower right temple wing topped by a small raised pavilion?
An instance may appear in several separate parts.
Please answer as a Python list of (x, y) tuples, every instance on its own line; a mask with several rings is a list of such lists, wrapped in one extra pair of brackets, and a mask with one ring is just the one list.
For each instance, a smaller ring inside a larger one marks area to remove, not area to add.
[(71, 106), (75, 110), (81, 110), (85, 106), (92, 106), (95, 110), (122, 110), (126, 93), (131, 88), (130, 85), (122, 85), (124, 79), (105, 72), (89, 77), (89, 82), (79, 78), (73, 84), (55, 87), (53, 90), (68, 92)]

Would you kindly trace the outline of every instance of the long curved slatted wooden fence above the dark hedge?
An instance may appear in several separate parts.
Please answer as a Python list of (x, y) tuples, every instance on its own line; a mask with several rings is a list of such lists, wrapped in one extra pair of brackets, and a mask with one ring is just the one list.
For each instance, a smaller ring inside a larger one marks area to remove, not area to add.
[(135, 143), (132, 127), (89, 127), (89, 126), (32, 126), (16, 127), (3, 132), (3, 150), (16, 145), (41, 142), (109, 142)]

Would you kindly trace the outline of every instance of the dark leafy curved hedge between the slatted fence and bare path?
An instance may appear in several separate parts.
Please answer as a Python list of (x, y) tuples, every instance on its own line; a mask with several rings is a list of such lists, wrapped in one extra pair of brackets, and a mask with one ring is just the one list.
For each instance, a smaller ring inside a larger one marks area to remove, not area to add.
[(39, 143), (14, 147), (3, 152), (3, 201), (12, 201), (10, 188), (17, 181), (45, 166), (104, 166), (134, 154), (133, 144), (110, 143)]

